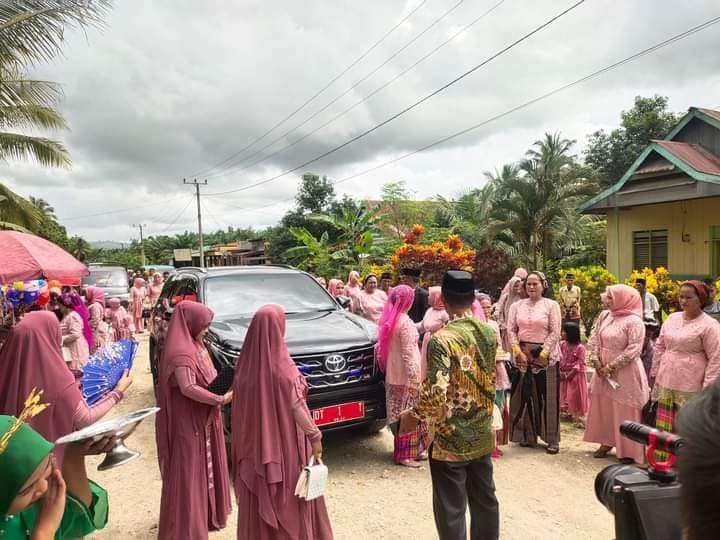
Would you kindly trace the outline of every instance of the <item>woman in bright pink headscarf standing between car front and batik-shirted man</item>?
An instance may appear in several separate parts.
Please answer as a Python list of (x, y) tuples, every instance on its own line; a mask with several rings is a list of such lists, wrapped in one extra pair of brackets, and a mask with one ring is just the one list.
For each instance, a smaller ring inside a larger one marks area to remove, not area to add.
[[(415, 404), (422, 383), (420, 335), (408, 316), (414, 300), (415, 290), (411, 287), (394, 287), (378, 324), (378, 365), (385, 373), (387, 423), (396, 442), (400, 414)], [(420, 466), (415, 460), (402, 460), (398, 464)]]

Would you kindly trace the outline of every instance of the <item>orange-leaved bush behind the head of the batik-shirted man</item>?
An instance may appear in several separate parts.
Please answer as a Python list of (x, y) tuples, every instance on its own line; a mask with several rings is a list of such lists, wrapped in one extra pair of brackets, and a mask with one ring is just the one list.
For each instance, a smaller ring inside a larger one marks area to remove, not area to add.
[(405, 243), (390, 257), (396, 275), (402, 268), (418, 268), (423, 282), (435, 285), (447, 270), (473, 270), (475, 250), (466, 248), (459, 236), (450, 235), (445, 242), (421, 244), (424, 234), (425, 227), (413, 225), (405, 235)]

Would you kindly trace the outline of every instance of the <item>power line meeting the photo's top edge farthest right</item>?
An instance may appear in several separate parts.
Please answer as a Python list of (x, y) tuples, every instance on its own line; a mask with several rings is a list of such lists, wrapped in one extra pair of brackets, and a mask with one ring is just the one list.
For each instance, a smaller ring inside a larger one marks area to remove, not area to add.
[(312, 159), (310, 159), (310, 160), (308, 160), (308, 161), (306, 161), (306, 162), (304, 162), (304, 163), (301, 163), (300, 165), (298, 165), (298, 166), (296, 166), (296, 167), (293, 167), (292, 169), (286, 170), (286, 171), (284, 171), (284, 172), (282, 172), (282, 173), (280, 173), (280, 174), (277, 174), (277, 175), (275, 175), (275, 176), (271, 176), (270, 178), (266, 178), (266, 179), (264, 179), (264, 180), (260, 180), (260, 181), (258, 181), (258, 182), (255, 182), (255, 183), (253, 183), (253, 184), (249, 184), (249, 185), (247, 185), (247, 186), (243, 186), (243, 187), (239, 187), (239, 188), (235, 188), (235, 189), (229, 189), (229, 190), (227, 190), (227, 191), (219, 191), (219, 192), (216, 192), (216, 193), (208, 193), (207, 196), (210, 197), (210, 196), (216, 196), (216, 195), (225, 195), (225, 194), (227, 194), (227, 193), (236, 193), (236, 192), (238, 192), (238, 191), (245, 191), (245, 190), (248, 190), (248, 189), (257, 187), (257, 186), (261, 186), (261, 185), (267, 184), (268, 182), (272, 182), (272, 181), (274, 181), (274, 180), (277, 180), (278, 178), (282, 178), (283, 176), (286, 176), (286, 175), (288, 175), (288, 174), (290, 174), (290, 173), (292, 173), (292, 172), (295, 172), (295, 171), (298, 171), (298, 170), (300, 170), (300, 169), (303, 169), (303, 168), (307, 167), (308, 165), (310, 165), (310, 164), (312, 164), (312, 163), (315, 163), (316, 161), (320, 161), (321, 159), (326, 158), (327, 156), (329, 156), (329, 155), (331, 155), (331, 154), (334, 154), (334, 153), (337, 152), (338, 150), (341, 150), (341, 149), (345, 148), (346, 146), (349, 146), (349, 145), (353, 144), (354, 142), (357, 142), (358, 140), (366, 137), (367, 135), (373, 133), (374, 131), (377, 131), (377, 130), (380, 129), (381, 127), (386, 126), (386, 125), (389, 124), (390, 122), (396, 120), (397, 118), (399, 118), (399, 117), (402, 116), (403, 114), (405, 114), (405, 113), (407, 113), (407, 112), (415, 109), (416, 107), (418, 107), (419, 105), (425, 103), (426, 101), (428, 101), (429, 99), (433, 98), (434, 96), (436, 96), (436, 95), (444, 92), (445, 90), (447, 90), (448, 88), (450, 88), (450, 87), (453, 86), (454, 84), (460, 82), (460, 81), (463, 80), (465, 77), (468, 77), (469, 75), (471, 75), (472, 73), (474, 73), (475, 71), (477, 71), (477, 70), (480, 69), (481, 67), (485, 66), (486, 64), (488, 64), (489, 62), (491, 62), (491, 61), (494, 60), (495, 58), (498, 58), (499, 56), (505, 54), (507, 51), (509, 51), (509, 50), (512, 49), (513, 47), (516, 47), (517, 45), (519, 45), (519, 44), (522, 43), (523, 41), (525, 41), (525, 40), (529, 39), (530, 37), (532, 37), (533, 35), (537, 34), (538, 32), (540, 32), (541, 30), (543, 30), (543, 29), (546, 28), (547, 26), (551, 25), (553, 22), (557, 21), (558, 19), (560, 19), (560, 18), (563, 17), (564, 15), (568, 14), (569, 12), (571, 12), (572, 10), (574, 10), (575, 8), (577, 8), (578, 6), (580, 6), (580, 5), (583, 4), (583, 3), (585, 3), (585, 0), (579, 0), (578, 2), (576, 2), (575, 4), (573, 4), (572, 6), (570, 6), (569, 8), (566, 8), (565, 10), (561, 11), (560, 13), (558, 13), (557, 15), (555, 15), (554, 17), (550, 18), (549, 20), (547, 20), (546, 22), (544, 22), (543, 24), (541, 24), (540, 26), (538, 26), (538, 27), (535, 28), (534, 30), (532, 30), (532, 31), (528, 32), (527, 34), (525, 34), (524, 36), (516, 39), (516, 40), (513, 41), (510, 45), (505, 46), (505, 47), (502, 48), (500, 51), (498, 51), (498, 52), (496, 52), (495, 54), (491, 55), (489, 58), (483, 60), (482, 62), (480, 62), (479, 64), (473, 66), (472, 68), (470, 68), (469, 70), (465, 71), (465, 72), (462, 73), (461, 75), (458, 75), (457, 77), (455, 77), (455, 78), (452, 79), (451, 81), (445, 83), (443, 86), (441, 86), (441, 87), (438, 88), (437, 90), (434, 90), (433, 92), (427, 94), (425, 97), (419, 99), (418, 101), (416, 101), (416, 102), (413, 103), (412, 105), (409, 105), (409, 106), (405, 107), (404, 109), (402, 109), (401, 111), (393, 114), (393, 115), (390, 116), (389, 118), (386, 118), (385, 120), (383, 120), (383, 121), (380, 122), (379, 124), (376, 124), (375, 126), (373, 126), (373, 127), (369, 128), (369, 129), (363, 131), (363, 132), (360, 133), (359, 135), (356, 135), (355, 137), (353, 137), (353, 138), (345, 141), (344, 143), (342, 143), (342, 144), (340, 144), (340, 145), (338, 145), (338, 146), (336, 146), (336, 147), (328, 150), (327, 152), (324, 152), (324, 153), (320, 154), (319, 156), (316, 156), (316, 157), (314, 157), (314, 158), (312, 158)]

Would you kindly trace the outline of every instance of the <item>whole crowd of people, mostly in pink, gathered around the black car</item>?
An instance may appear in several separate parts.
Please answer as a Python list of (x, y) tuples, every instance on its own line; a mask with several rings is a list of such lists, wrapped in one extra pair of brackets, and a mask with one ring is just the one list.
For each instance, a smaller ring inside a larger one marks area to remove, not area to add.
[[(397, 284), (391, 274), (358, 272), (345, 283), (317, 280), (341, 306), (378, 326), (393, 459), (413, 469), (429, 460), (443, 539), (466, 537), (468, 507), (472, 538), (498, 538), (492, 459), (502, 456), (501, 446), (536, 448), (542, 441), (548, 454), (557, 454), (566, 414), (584, 428), (586, 441), (599, 445), (595, 457), (614, 448), (618, 459), (643, 464), (644, 448), (622, 438), (618, 426), (654, 415), (658, 428), (677, 431), (681, 409), (720, 373), (720, 324), (712, 317), (718, 302), (706, 283), (683, 283), (680, 310), (664, 321), (642, 280), (610, 286), (602, 297), (606, 309), (584, 329), (582, 291), (570, 274), (554, 294), (542, 272), (519, 268), (496, 299), (460, 270), (428, 289), (418, 269), (405, 268), (399, 277)], [(25, 315), (0, 349), (5, 538), (50, 538), (55, 530), (61, 538), (80, 536), (107, 519), (107, 494), (87, 480), (84, 455), (114, 441), (51, 442), (104, 416), (132, 382), (126, 373), (91, 407), (78, 387), (88, 355), (142, 331), (143, 310), (162, 291), (160, 274), (149, 283), (129, 278), (127, 312), (96, 287), (81, 295), (50, 283), (47, 308)], [(295, 496), (299, 472), (311, 459), (322, 460), (323, 446), (307, 407), (307, 383), (285, 344), (284, 309), (256, 312), (235, 364), (242, 376), (222, 393), (213, 390), (219, 374), (203, 342), (212, 319), (207, 306), (179, 303), (160, 358), (159, 538), (206, 538), (224, 528), (231, 489), (238, 538), (332, 538), (323, 497)], [(648, 338), (655, 326), (657, 337)], [(46, 410), (36, 389), (50, 404)], [(231, 410), (229, 453), (224, 406)], [(65, 491), (77, 503), (68, 508), (83, 509), (82, 518), (65, 510)]]

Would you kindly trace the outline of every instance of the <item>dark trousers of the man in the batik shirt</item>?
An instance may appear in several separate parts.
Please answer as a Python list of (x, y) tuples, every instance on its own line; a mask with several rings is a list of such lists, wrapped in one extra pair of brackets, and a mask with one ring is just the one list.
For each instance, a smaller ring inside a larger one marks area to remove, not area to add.
[(490, 454), (473, 461), (430, 459), (433, 510), (440, 540), (466, 540), (465, 512), (470, 505), (471, 540), (497, 540), (500, 512), (495, 498)]

